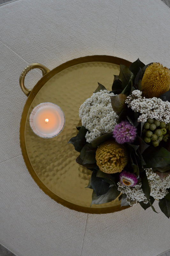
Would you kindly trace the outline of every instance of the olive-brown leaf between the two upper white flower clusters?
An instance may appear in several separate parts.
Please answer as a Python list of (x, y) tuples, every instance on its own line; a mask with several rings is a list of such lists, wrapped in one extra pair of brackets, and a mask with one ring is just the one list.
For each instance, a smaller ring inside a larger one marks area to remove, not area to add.
[(127, 98), (127, 95), (120, 93), (115, 96), (110, 96), (110, 98), (113, 110), (116, 112), (117, 115), (119, 115), (122, 112), (123, 108), (125, 108), (126, 106), (125, 100)]

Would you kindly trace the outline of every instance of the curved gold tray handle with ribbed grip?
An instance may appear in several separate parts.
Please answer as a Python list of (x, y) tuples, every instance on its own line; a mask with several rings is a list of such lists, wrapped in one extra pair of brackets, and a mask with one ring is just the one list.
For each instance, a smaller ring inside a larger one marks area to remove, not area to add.
[(24, 70), (21, 72), (21, 75), (19, 77), (19, 84), (20, 87), (22, 89), (22, 91), (26, 94), (26, 96), (29, 96), (30, 92), (32, 91), (32, 89), (27, 89), (24, 85), (24, 79), (26, 74), (34, 68), (39, 68), (42, 71), (42, 76), (44, 76), (45, 74), (47, 74), (50, 70), (48, 68), (46, 68), (44, 65), (40, 64), (40, 63), (32, 63), (28, 66), (26, 66), (26, 68), (24, 68)]

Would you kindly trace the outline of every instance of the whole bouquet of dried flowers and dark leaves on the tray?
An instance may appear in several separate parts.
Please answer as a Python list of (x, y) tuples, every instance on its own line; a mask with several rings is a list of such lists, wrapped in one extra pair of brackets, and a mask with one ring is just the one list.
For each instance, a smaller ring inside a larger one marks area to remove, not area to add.
[[(78, 164), (92, 171), (92, 204), (119, 197), (146, 210), (159, 200), (170, 217), (170, 70), (159, 63), (120, 65), (112, 91), (98, 83), (80, 106), (71, 138)], [(156, 212), (156, 211), (155, 211)]]

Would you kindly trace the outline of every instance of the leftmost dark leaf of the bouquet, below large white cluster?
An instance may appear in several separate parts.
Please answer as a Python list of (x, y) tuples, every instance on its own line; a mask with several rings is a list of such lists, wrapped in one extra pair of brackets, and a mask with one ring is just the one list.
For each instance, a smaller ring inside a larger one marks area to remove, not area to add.
[(85, 139), (85, 134), (88, 130), (82, 126), (75, 137), (72, 137), (68, 143), (73, 144), (75, 150), (80, 152), (84, 145), (87, 143)]

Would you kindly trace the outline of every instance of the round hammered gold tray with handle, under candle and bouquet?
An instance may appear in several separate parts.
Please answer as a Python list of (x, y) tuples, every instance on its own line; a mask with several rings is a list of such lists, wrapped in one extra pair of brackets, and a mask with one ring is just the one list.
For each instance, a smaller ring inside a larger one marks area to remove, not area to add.
[[(85, 188), (91, 171), (76, 163), (79, 155), (68, 141), (76, 136), (80, 124), (80, 105), (98, 87), (98, 82), (111, 90), (119, 65), (130, 65), (127, 60), (104, 55), (87, 56), (70, 60), (53, 70), (34, 63), (20, 76), (20, 86), (28, 96), (20, 124), (20, 146), (24, 161), (38, 186), (56, 202), (80, 212), (108, 213), (121, 211), (118, 198), (106, 204), (92, 204), (92, 189)], [(33, 90), (26, 89), (24, 78), (29, 70), (40, 68), (42, 78)], [(65, 114), (63, 131), (51, 139), (36, 136), (30, 128), (29, 116), (35, 106), (52, 102)]]

